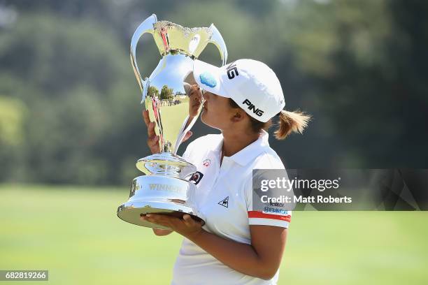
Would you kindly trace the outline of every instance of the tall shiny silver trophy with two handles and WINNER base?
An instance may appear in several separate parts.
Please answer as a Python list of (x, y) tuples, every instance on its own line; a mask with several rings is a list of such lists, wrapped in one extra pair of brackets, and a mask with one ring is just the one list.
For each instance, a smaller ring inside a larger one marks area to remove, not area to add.
[[(149, 78), (143, 80), (136, 63), (136, 45), (139, 38), (152, 34), (162, 58)], [(148, 17), (134, 32), (131, 40), (131, 64), (142, 93), (141, 103), (148, 110), (150, 121), (155, 122), (161, 153), (139, 159), (136, 167), (145, 175), (134, 178), (129, 200), (117, 208), (117, 217), (131, 224), (151, 228), (165, 228), (141, 221), (141, 214), (162, 213), (181, 217), (198, 217), (192, 203), (195, 185), (186, 180), (196, 167), (176, 154), (185, 134), (197, 117), (190, 119), (187, 91), (194, 82), (194, 59), (208, 43), (220, 50), (222, 64), (227, 61), (227, 48), (220, 32), (211, 24), (209, 28), (185, 28), (167, 21)], [(199, 108), (199, 112), (201, 107)], [(199, 115), (199, 113), (198, 113)], [(190, 122), (188, 122), (190, 121)]]

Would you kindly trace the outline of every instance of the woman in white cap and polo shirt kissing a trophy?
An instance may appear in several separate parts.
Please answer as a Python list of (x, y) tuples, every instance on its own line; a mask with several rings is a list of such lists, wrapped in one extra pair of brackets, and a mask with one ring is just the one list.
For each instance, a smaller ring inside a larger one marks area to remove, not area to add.
[[(168, 226), (185, 238), (172, 284), (276, 284), (291, 212), (252, 209), (252, 170), (284, 169), (269, 147), (266, 130), (273, 117), (279, 117), (275, 136), (280, 140), (301, 133), (310, 117), (283, 110), (280, 82), (262, 62), (240, 59), (217, 68), (195, 61), (193, 75), (204, 95), (192, 86), (190, 117), (197, 115), (204, 96), (201, 121), (221, 131), (197, 138), (183, 154), (197, 166), (192, 179), (197, 184), (194, 202), (206, 224), (201, 226), (188, 214), (183, 219), (162, 214), (141, 219)], [(148, 145), (153, 153), (159, 152), (154, 124), (147, 112), (143, 117)]]

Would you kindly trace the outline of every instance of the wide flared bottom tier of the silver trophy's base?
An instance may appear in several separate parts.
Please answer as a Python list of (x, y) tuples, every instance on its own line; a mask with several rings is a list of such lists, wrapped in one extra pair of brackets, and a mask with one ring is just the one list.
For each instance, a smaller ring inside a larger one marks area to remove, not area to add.
[(205, 224), (204, 220), (197, 217), (191, 207), (187, 207), (183, 204), (178, 204), (175, 202), (165, 203), (157, 201), (134, 201), (127, 202), (120, 205), (117, 208), (117, 217), (123, 221), (127, 221), (130, 224), (137, 226), (145, 226), (148, 228), (160, 228), (164, 230), (170, 230), (166, 226), (161, 226), (159, 224), (153, 224), (149, 221), (143, 221), (140, 219), (143, 214), (167, 214), (173, 217), (182, 219), (184, 214), (190, 214), (192, 218), (196, 221), (200, 221), (202, 225)]

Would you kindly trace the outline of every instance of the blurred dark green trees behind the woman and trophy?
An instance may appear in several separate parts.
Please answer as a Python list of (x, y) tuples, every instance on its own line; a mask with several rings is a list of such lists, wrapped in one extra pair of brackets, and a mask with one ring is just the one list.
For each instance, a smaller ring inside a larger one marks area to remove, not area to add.
[[(428, 2), (3, 1), (0, 180), (128, 184), (148, 155), (129, 41), (152, 13), (222, 33), (229, 61), (266, 62), (305, 136), (271, 141), (287, 166), (425, 167)], [(143, 77), (160, 59), (138, 45)], [(218, 65), (208, 45), (201, 59)], [(150, 87), (162, 100), (172, 90)], [(194, 137), (213, 132), (198, 122)], [(185, 145), (180, 147), (183, 152)]]

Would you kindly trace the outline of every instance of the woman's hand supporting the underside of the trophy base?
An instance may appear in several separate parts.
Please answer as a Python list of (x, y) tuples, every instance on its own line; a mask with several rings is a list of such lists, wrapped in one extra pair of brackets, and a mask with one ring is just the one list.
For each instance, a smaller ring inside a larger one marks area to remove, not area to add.
[(145, 214), (145, 216), (142, 216), (140, 219), (171, 228), (171, 230), (189, 239), (199, 235), (202, 231), (201, 222), (192, 219), (190, 214), (184, 214), (183, 219), (171, 217), (166, 214)]

